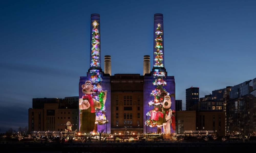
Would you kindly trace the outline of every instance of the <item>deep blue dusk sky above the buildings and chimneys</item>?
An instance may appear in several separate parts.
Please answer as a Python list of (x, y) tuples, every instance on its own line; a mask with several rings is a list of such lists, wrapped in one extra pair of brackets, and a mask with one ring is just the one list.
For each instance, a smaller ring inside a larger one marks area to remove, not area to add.
[(101, 58), (112, 74), (153, 66), (153, 17), (164, 15), (165, 68), (176, 99), (256, 77), (256, 1), (1, 1), (0, 128), (28, 126), (32, 98), (78, 96), (90, 59), (90, 16), (100, 14)]

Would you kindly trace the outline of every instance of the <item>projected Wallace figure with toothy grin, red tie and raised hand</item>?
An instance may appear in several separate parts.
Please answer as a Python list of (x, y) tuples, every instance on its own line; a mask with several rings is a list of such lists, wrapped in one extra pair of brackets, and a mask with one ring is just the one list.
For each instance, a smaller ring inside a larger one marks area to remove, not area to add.
[[(101, 103), (94, 98), (92, 98), (91, 94), (93, 94), (93, 85), (91, 81), (87, 80), (85, 84), (82, 85), (82, 92), (84, 96), (79, 99), (79, 110), (80, 110), (80, 119), (79, 119), (79, 131), (81, 133), (89, 133), (94, 129), (95, 124), (95, 107), (101, 108)], [(104, 94), (103, 97), (103, 105), (105, 105), (107, 91), (100, 91), (100, 93)], [(100, 94), (99, 93), (99, 94)]]

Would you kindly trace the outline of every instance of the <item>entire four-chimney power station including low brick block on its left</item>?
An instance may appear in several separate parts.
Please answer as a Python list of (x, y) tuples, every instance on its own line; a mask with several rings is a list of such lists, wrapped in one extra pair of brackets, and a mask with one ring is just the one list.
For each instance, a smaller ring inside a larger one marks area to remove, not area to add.
[(90, 63), (80, 77), (79, 96), (34, 98), (29, 131), (176, 133), (175, 80), (164, 65), (163, 14), (154, 15), (153, 26), (153, 54), (141, 57), (143, 75), (111, 75), (111, 55), (101, 67), (100, 15), (91, 14)]

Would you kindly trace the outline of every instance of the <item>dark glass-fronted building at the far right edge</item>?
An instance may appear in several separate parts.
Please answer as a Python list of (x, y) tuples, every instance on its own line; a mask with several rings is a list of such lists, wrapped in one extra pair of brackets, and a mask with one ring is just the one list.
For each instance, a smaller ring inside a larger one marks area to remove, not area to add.
[(227, 132), (247, 135), (256, 131), (256, 78), (231, 87), (226, 107)]

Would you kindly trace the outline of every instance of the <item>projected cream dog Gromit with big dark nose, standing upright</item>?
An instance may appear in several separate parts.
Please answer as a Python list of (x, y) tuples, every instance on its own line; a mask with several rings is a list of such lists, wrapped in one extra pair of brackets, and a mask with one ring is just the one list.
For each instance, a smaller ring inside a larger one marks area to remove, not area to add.
[(171, 97), (168, 95), (165, 96), (162, 105), (163, 105), (163, 113), (164, 113), (164, 123), (163, 123), (164, 133), (170, 134), (171, 124), (172, 124)]

